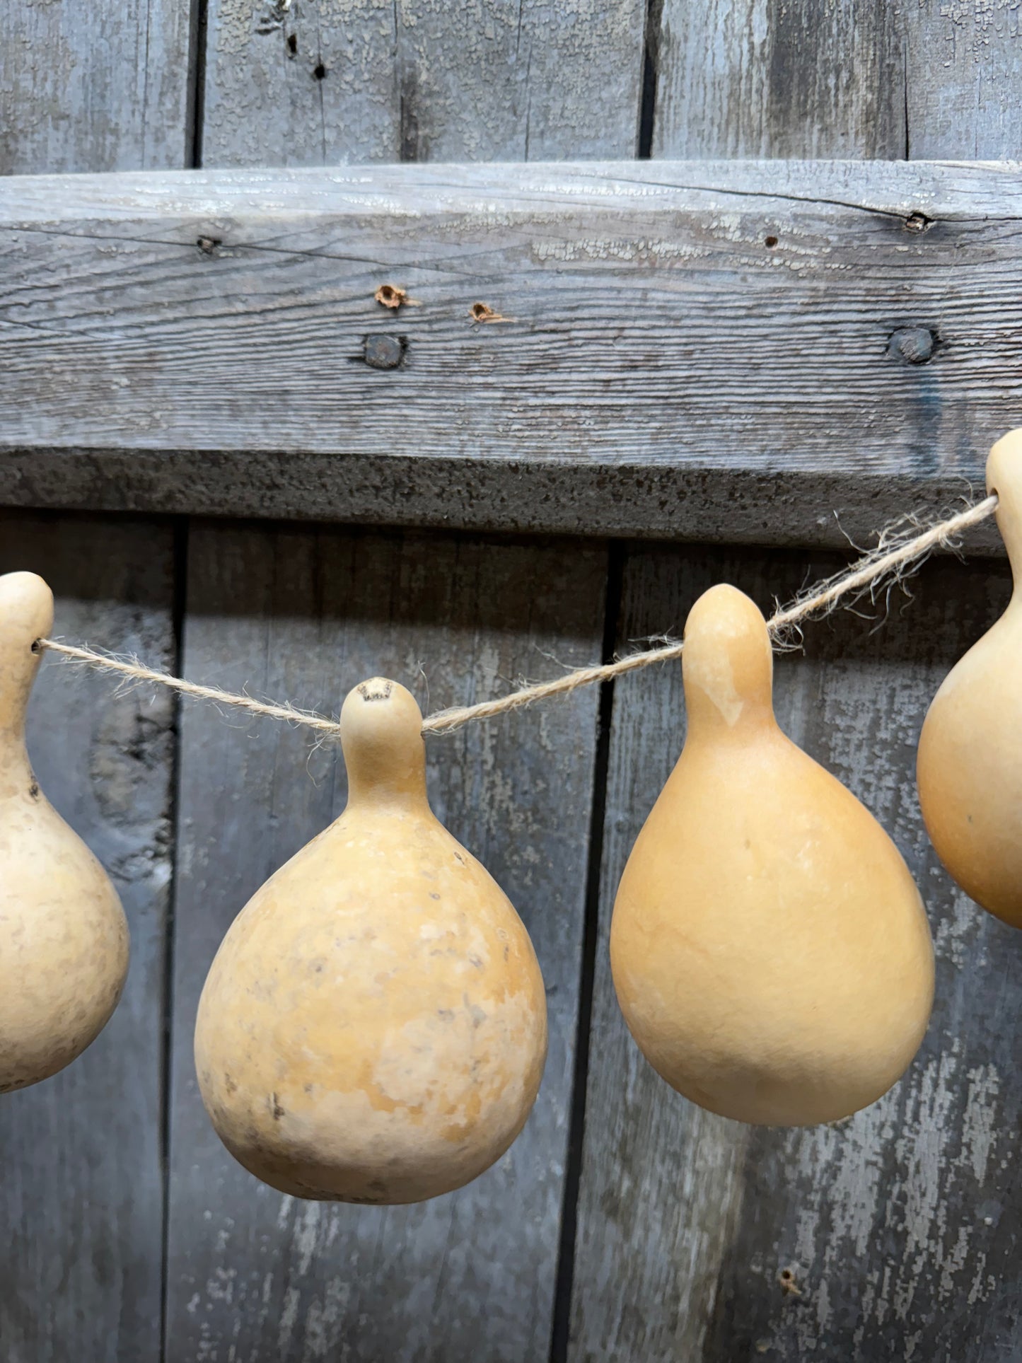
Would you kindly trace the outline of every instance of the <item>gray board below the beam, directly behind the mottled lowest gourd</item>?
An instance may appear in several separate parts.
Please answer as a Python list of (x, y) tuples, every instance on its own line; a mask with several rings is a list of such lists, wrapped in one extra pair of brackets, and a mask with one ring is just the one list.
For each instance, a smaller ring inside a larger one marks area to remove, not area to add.
[[(331, 529), (193, 532), (185, 668), (339, 709), (384, 673), (437, 707), (600, 654), (605, 551)], [(556, 662), (553, 661), (556, 658)], [(571, 1103), (597, 694), (431, 740), (437, 816), (536, 943), (551, 1052), (499, 1164), (416, 1208), (303, 1204), (221, 1148), (195, 1085), (203, 979), (234, 915), (337, 816), (343, 763), (303, 732), (183, 718), (170, 1146), (169, 1363), (545, 1356)]]

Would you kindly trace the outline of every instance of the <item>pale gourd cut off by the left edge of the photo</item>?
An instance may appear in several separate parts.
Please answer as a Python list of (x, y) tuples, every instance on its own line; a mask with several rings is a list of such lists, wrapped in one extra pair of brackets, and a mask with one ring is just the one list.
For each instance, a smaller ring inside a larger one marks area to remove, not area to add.
[(117, 893), (29, 765), (34, 645), (52, 628), (42, 578), (0, 577), (0, 1093), (80, 1055), (117, 1006), (128, 969)]

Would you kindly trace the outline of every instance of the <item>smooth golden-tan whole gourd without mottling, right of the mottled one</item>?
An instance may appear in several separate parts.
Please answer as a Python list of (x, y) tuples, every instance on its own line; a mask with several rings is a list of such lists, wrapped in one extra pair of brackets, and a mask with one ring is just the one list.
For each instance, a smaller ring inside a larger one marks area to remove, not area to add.
[(872, 815), (778, 728), (763, 616), (692, 607), (688, 733), (621, 876), (610, 965), (628, 1028), (694, 1103), (741, 1122), (843, 1118), (905, 1071), (933, 953)]

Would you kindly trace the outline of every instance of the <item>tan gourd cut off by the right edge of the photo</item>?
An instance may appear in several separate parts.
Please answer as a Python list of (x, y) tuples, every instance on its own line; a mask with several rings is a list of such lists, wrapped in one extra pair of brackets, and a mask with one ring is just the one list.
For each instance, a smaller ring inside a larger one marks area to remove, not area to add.
[(940, 860), (977, 904), (1022, 928), (1022, 431), (991, 450), (987, 489), (1015, 590), (933, 696), (916, 774)]

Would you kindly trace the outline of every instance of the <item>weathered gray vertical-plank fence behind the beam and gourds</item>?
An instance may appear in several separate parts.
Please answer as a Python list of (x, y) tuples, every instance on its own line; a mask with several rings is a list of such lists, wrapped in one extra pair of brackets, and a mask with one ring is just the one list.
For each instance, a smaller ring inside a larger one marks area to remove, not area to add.
[[(1012, 158), (1021, 25), (1014, 0), (23, 4), (0, 53), (0, 169)], [(11, 279), (1, 343), (25, 316)], [(854, 469), (854, 451), (834, 462)], [(61, 511), (50, 489), (33, 510), (19, 477), (0, 571), (52, 582), (61, 634), (324, 710), (375, 672), (424, 701), (428, 686), (433, 706), (469, 702), (677, 631), (721, 578), (766, 605), (841, 562), (770, 512), (744, 547), (709, 547), (353, 527), (342, 504), (319, 517), (337, 523), (279, 525)], [(875, 506), (878, 521), (902, 510)], [(339, 812), (334, 754), (164, 694), (114, 698), (49, 661), (37, 771), (113, 874), (134, 955), (95, 1045), (0, 1104), (0, 1355), (1017, 1363), (1019, 943), (936, 864), (913, 782), (928, 699), (1008, 592), (1000, 560), (935, 563), (879, 631), (834, 619), (777, 668), (788, 732), (893, 831), (938, 947), (920, 1058), (833, 1127), (700, 1112), (616, 1010), (609, 912), (683, 739), (677, 668), (431, 743), (436, 812), (536, 942), (551, 1058), (508, 1156), (412, 1209), (258, 1184), (219, 1148), (192, 1073), (207, 965), (256, 886)]]

